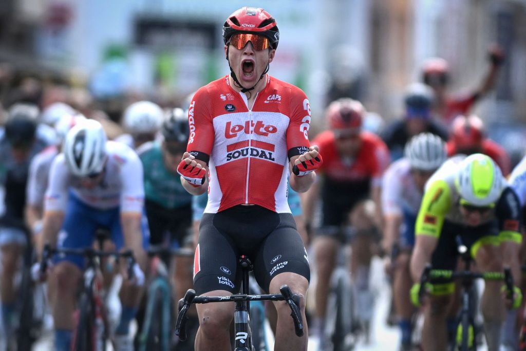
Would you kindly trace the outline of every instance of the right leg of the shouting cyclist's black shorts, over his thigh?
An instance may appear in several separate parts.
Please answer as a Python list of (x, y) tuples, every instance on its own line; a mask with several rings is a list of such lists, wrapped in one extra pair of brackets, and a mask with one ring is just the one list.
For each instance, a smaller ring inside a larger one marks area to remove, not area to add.
[(268, 293), (270, 281), (280, 273), (291, 272), (310, 280), (307, 250), (296, 230), (294, 218), (280, 213), (280, 224), (264, 239), (254, 262), (254, 276)]

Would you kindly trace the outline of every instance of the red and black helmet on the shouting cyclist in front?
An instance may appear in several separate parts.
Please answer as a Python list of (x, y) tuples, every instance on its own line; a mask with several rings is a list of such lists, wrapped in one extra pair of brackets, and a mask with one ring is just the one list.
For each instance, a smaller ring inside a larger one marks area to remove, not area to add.
[(245, 6), (228, 16), (223, 25), (225, 45), (236, 33), (264, 35), (273, 49), (278, 47), (279, 29), (276, 20), (262, 8)]

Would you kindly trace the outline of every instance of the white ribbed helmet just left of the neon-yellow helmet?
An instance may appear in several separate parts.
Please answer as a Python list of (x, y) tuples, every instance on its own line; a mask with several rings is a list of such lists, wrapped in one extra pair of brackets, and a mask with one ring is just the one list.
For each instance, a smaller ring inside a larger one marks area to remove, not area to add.
[(433, 171), (446, 161), (446, 144), (434, 134), (420, 133), (406, 144), (404, 156), (409, 159), (411, 168)]

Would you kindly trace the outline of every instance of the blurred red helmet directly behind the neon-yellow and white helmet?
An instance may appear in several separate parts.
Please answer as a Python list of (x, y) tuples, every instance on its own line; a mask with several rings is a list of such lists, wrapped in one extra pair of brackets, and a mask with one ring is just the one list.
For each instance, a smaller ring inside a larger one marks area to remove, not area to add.
[(451, 138), (457, 151), (479, 149), (484, 140), (484, 123), (476, 115), (457, 116), (451, 125)]

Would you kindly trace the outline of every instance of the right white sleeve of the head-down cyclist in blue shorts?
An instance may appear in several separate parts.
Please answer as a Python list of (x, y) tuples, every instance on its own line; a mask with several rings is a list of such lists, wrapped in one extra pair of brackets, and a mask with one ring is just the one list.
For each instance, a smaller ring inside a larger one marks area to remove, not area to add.
[(142, 213), (144, 206), (143, 164), (135, 152), (130, 152), (120, 168), (122, 192), (120, 213)]

